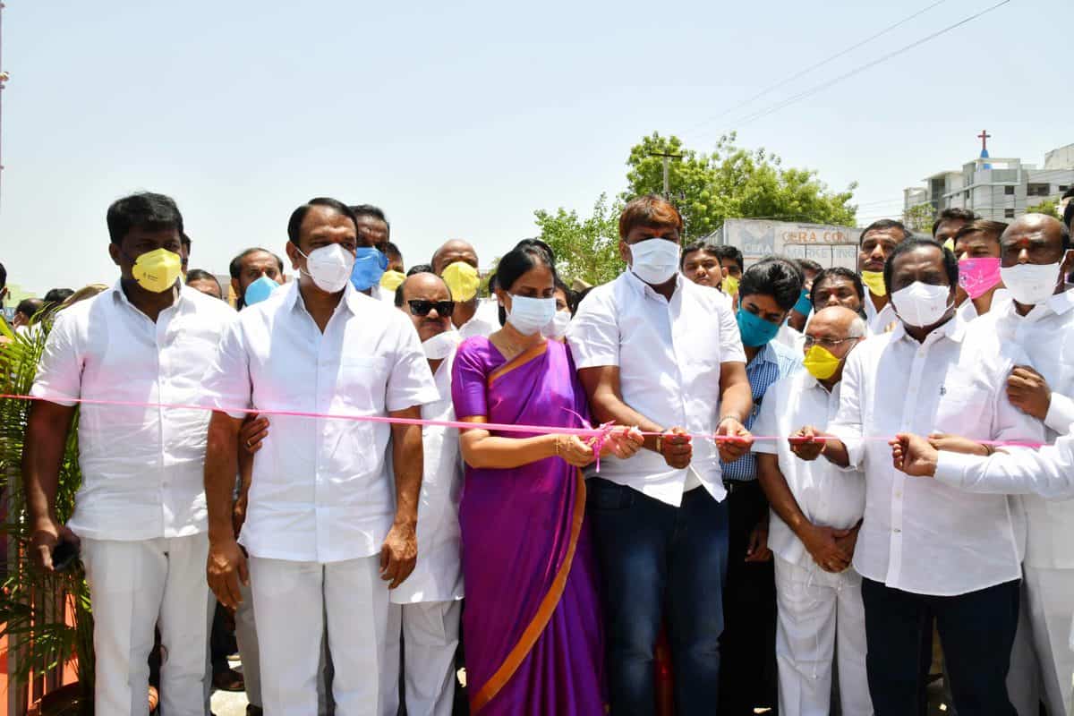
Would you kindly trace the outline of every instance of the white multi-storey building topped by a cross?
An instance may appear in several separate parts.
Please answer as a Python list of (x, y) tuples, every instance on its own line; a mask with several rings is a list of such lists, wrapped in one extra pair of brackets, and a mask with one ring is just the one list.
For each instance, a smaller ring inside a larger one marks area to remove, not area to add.
[[(982, 143), (988, 134), (982, 132)], [(981, 135), (978, 135), (981, 136)], [(947, 208), (967, 208), (982, 219), (1010, 222), (1026, 213), (1027, 206), (1051, 200), (1059, 204), (1063, 192), (1074, 186), (1074, 144), (1053, 149), (1044, 156), (1044, 166), (1020, 159), (981, 157), (955, 171), (938, 172), (924, 187), (902, 191), (903, 209), (931, 204), (933, 215)]]

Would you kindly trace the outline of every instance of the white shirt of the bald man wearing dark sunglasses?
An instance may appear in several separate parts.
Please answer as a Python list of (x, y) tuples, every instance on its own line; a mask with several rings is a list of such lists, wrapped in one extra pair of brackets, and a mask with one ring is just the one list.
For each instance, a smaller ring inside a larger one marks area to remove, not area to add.
[[(453, 421), (451, 401), (452, 353), (433, 374), (439, 399), (421, 407), (424, 420)], [(425, 469), (418, 502), (418, 564), (406, 582), (392, 589), (393, 604), (453, 601), (463, 598), (462, 534), (459, 499), (463, 488), (463, 463), (459, 452), (459, 428), (423, 425), (422, 452)]]

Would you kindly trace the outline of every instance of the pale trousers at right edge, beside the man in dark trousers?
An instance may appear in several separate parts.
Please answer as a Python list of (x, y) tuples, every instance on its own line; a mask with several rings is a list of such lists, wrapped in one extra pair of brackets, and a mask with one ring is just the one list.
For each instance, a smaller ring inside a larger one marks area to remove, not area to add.
[(1019, 716), (1036, 716), (1043, 701), (1048, 716), (1071, 713), (1074, 652), (1074, 569), (1022, 567), (1018, 632), (1011, 652), (1007, 690)]

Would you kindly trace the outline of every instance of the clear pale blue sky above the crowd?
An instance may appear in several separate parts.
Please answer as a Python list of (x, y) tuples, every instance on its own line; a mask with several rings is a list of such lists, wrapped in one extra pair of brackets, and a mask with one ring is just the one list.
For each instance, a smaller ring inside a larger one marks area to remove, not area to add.
[[(192, 267), (286, 242), (321, 194), (383, 207), (408, 264), (448, 237), (482, 263), (534, 235), (533, 211), (587, 211), (624, 186), (642, 135), (708, 149), (736, 119), (996, 0), (947, 0), (734, 112), (758, 89), (931, 0), (278, 3), (8, 0), (0, 262), (39, 292), (111, 283), (104, 211), (173, 195)], [(975, 157), (1043, 163), (1074, 142), (1070, 0), (1015, 0), (895, 60), (739, 128), (859, 218)], [(690, 131), (687, 131), (690, 130)]]

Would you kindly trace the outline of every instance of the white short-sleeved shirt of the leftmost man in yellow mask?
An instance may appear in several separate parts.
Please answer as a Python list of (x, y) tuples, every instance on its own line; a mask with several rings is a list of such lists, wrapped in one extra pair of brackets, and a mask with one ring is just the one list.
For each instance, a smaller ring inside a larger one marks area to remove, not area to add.
[[(30, 391), (73, 398), (199, 405), (202, 376), (235, 311), (183, 287), (154, 323), (120, 284), (56, 315)], [(68, 526), (96, 540), (187, 537), (207, 528), (207, 410), (83, 405), (82, 486)]]

